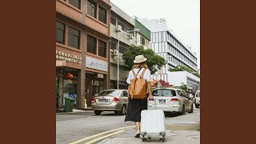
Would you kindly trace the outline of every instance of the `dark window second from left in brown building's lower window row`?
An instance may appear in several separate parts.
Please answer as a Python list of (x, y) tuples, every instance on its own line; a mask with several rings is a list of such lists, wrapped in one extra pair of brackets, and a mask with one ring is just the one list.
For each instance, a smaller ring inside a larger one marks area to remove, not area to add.
[(80, 47), (80, 31), (69, 26), (69, 46), (74, 48)]

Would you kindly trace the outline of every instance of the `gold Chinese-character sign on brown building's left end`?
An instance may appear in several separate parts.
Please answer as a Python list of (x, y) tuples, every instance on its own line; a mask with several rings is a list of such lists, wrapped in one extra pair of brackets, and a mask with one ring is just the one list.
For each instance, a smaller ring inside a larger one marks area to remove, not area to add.
[[(69, 53), (65, 53), (60, 50), (56, 50), (56, 59), (66, 61), (66, 62), (74, 62), (78, 64), (82, 63), (82, 57), (79, 57), (78, 55), (74, 55), (74, 54), (72, 55)], [(57, 66), (57, 62), (56, 62), (56, 66)]]

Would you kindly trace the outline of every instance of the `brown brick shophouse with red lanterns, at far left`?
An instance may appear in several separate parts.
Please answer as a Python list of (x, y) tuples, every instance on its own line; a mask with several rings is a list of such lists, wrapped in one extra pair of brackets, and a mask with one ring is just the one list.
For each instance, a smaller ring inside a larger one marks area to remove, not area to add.
[(110, 88), (110, 0), (56, 0), (56, 88), (75, 107)]

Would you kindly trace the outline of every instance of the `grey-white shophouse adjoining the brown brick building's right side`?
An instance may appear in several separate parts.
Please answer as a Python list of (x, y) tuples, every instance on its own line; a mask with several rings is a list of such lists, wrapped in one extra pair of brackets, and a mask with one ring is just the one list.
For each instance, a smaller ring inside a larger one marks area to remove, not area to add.
[[(110, 88), (127, 89), (126, 78), (129, 71), (123, 70), (122, 54), (129, 46), (137, 45), (135, 20), (111, 3), (110, 10)], [(119, 76), (119, 77), (118, 77)]]

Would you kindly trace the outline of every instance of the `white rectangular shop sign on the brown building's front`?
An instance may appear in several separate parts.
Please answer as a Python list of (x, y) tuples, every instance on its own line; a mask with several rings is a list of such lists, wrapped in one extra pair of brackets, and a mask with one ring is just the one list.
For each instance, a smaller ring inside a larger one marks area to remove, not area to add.
[(90, 57), (86, 57), (86, 67), (96, 70), (108, 71), (107, 62)]

